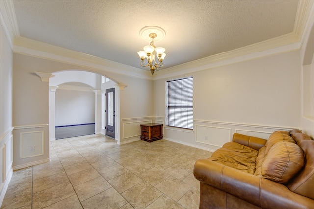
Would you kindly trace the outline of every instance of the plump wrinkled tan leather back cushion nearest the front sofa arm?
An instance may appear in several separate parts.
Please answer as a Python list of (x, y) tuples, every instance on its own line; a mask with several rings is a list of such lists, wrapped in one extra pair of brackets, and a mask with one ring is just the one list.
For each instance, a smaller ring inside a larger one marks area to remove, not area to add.
[(269, 150), (261, 167), (265, 179), (287, 183), (304, 165), (303, 150), (295, 143), (281, 141)]

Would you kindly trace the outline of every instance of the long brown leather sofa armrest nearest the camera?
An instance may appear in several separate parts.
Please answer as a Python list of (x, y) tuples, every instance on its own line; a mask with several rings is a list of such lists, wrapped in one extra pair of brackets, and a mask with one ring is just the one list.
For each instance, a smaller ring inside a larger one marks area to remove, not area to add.
[[(202, 183), (261, 208), (311, 208), (314, 200), (290, 191), (286, 186), (208, 159), (194, 165), (194, 176)], [(210, 195), (210, 194), (208, 194)]]

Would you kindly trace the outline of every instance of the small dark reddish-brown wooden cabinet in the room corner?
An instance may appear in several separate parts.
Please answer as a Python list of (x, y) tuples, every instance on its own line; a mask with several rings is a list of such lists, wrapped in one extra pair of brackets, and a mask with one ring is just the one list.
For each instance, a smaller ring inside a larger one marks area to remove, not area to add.
[(147, 123), (141, 124), (141, 140), (148, 142), (162, 139), (162, 124)]

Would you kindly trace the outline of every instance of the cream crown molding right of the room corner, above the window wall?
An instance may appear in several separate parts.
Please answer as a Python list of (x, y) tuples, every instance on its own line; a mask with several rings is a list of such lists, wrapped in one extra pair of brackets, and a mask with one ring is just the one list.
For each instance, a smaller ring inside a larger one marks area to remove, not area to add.
[(300, 50), (305, 39), (305, 33), (311, 29), (313, 22), (314, 1), (300, 0), (293, 32), (228, 52), (194, 60), (172, 68), (158, 70), (154, 74), (153, 80), (174, 77), (182, 74), (191, 74), (213, 67)]

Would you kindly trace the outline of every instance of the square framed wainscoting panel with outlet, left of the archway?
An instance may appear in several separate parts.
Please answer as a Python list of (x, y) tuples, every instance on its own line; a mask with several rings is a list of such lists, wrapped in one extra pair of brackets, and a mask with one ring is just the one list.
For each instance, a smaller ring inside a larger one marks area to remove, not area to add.
[(20, 133), (20, 159), (44, 155), (44, 131)]

